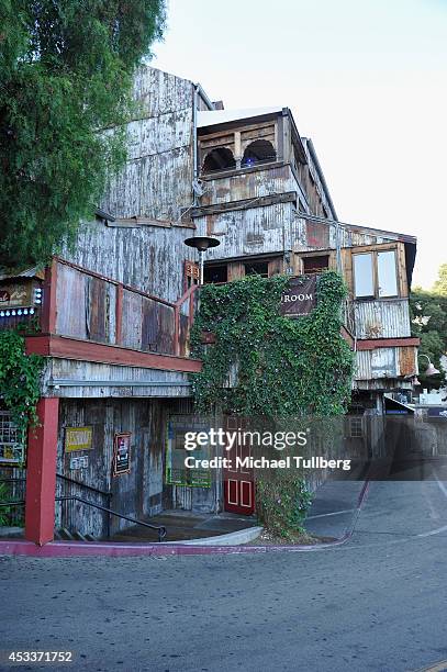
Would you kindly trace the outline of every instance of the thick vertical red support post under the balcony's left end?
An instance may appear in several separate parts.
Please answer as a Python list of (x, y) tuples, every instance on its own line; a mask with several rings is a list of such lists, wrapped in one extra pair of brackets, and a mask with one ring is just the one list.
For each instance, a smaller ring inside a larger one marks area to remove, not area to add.
[(26, 452), (25, 538), (37, 546), (54, 539), (59, 400), (37, 403), (40, 427), (29, 433)]

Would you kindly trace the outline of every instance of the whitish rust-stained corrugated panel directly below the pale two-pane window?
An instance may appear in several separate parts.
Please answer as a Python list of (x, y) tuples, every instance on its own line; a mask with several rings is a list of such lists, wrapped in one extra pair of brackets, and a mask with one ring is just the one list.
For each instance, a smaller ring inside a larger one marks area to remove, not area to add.
[(407, 299), (354, 301), (357, 338), (403, 338), (411, 336)]

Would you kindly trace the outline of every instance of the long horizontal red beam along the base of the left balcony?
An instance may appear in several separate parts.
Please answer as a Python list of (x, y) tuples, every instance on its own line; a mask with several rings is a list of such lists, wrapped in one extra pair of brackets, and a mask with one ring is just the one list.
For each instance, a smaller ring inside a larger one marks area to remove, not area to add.
[(131, 348), (92, 343), (89, 340), (78, 340), (76, 338), (66, 338), (64, 336), (51, 334), (27, 336), (26, 352), (35, 352), (37, 355), (64, 359), (141, 367), (143, 369), (160, 369), (164, 371), (197, 373), (202, 369), (202, 362), (199, 359), (178, 357), (176, 355), (142, 352), (141, 350), (132, 350)]

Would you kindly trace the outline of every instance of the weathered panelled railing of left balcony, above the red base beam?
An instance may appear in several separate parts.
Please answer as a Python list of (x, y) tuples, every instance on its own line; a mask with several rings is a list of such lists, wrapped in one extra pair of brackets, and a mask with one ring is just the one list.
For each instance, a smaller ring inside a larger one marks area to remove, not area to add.
[(0, 329), (20, 324), (30, 332), (34, 327), (37, 334), (143, 352), (189, 355), (197, 287), (177, 302), (165, 301), (59, 258), (53, 259), (41, 287), (42, 305), (1, 311)]

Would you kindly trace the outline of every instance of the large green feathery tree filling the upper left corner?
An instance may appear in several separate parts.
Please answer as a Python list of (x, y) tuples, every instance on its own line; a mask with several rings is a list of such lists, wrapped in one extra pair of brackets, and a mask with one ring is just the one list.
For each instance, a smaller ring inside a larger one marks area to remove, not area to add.
[(0, 265), (44, 264), (92, 216), (164, 22), (165, 0), (0, 0)]

